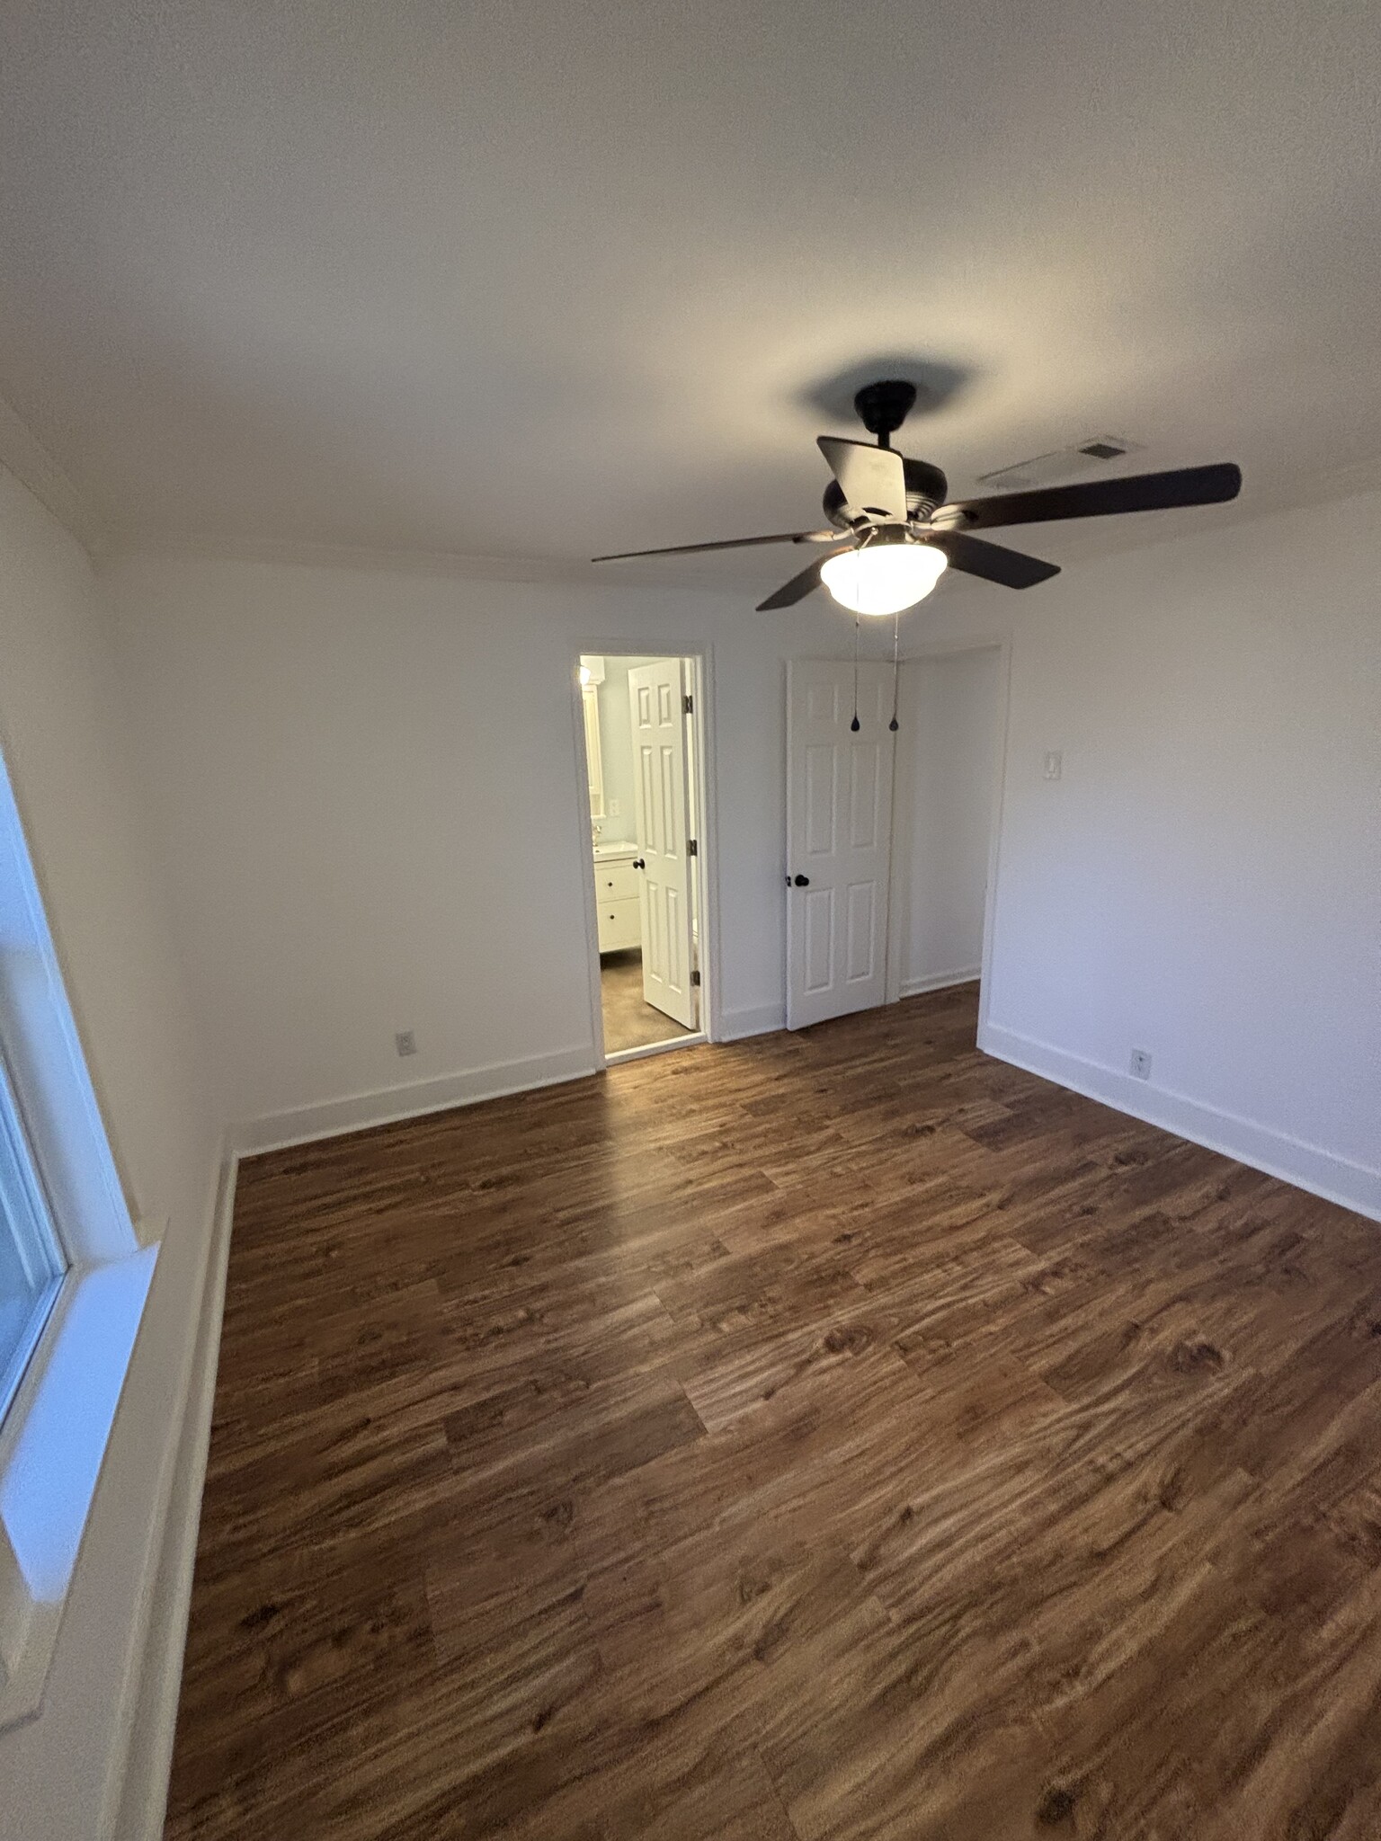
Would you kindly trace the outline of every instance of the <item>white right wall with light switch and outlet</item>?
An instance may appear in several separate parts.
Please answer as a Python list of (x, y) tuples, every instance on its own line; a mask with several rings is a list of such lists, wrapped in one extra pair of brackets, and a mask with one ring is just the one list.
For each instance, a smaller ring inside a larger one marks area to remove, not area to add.
[(1015, 635), (983, 1044), (1381, 1213), (1381, 499), (1079, 565)]

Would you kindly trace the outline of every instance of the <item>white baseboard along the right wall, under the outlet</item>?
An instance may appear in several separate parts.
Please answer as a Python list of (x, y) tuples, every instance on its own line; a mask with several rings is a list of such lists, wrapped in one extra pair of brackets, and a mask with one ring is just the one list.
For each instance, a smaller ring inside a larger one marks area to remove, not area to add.
[(1083, 1055), (1068, 1055), (1048, 1042), (1037, 1042), (996, 1024), (985, 1024), (978, 1031), (978, 1046), (985, 1055), (1009, 1060), (1027, 1073), (1044, 1075), (1088, 1099), (1101, 1099), (1105, 1106), (1129, 1112), (1134, 1119), (1145, 1119), (1147, 1125), (1190, 1138), (1208, 1151), (1221, 1151), (1239, 1164), (1250, 1164), (1267, 1176), (1280, 1176), (1328, 1202), (1339, 1202), (1370, 1221), (1381, 1221), (1381, 1171), (1353, 1164), (1333, 1151), (1324, 1151), (1322, 1145), (1271, 1130), (1234, 1112), (1221, 1112), (1184, 1094), (1167, 1094), (1116, 1068), (1085, 1060)]

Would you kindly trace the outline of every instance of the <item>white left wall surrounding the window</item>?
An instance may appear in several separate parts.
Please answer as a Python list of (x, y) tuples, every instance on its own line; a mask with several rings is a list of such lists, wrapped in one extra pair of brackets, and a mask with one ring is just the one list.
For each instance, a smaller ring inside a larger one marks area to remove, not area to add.
[(136, 1213), (168, 1222), (39, 1719), (0, 1734), (6, 1835), (99, 1832), (133, 1712), (140, 1592), (199, 1316), (219, 1101), (131, 803), (109, 630), (85, 554), (0, 469), (0, 746)]

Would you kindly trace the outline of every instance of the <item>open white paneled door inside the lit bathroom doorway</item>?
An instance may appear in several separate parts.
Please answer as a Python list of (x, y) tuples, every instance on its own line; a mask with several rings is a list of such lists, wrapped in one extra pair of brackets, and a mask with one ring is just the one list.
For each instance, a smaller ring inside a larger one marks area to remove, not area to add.
[(643, 996), (654, 1009), (694, 1029), (683, 661), (656, 659), (635, 666), (628, 674), (628, 711), (633, 724)]

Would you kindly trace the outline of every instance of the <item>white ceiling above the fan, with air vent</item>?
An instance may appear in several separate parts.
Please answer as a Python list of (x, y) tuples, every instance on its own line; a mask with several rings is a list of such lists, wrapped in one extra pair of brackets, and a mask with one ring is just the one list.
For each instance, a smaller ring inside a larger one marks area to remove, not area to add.
[(1379, 75), (1374, 0), (7, 0), (0, 390), (142, 539), (805, 525), (882, 357), (956, 492), (1112, 431), (1298, 503), (1381, 457)]

